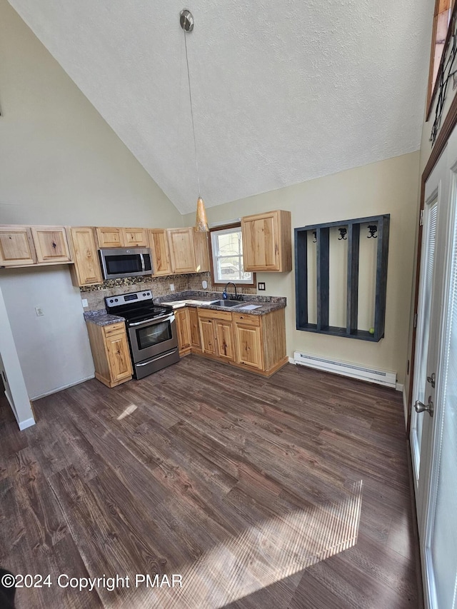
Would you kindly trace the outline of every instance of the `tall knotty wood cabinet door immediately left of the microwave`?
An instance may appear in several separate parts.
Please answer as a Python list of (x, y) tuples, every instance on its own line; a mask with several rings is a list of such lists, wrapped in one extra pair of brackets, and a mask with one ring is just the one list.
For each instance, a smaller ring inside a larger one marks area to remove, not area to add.
[(70, 230), (74, 250), (74, 270), (78, 286), (102, 283), (99, 256), (94, 229), (90, 226), (73, 227)]

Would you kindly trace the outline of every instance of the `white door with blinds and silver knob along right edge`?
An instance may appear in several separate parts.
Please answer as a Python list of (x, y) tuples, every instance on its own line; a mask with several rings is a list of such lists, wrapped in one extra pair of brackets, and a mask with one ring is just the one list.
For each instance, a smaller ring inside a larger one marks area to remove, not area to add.
[[(457, 609), (456, 171), (457, 134), (454, 133), (426, 183), (426, 213), (430, 218), (429, 226), (424, 225), (424, 244), (434, 230), (435, 246), (431, 280), (426, 279), (430, 260), (426, 253), (421, 266), (422, 311), (418, 318), (424, 326), (427, 281), (431, 281), (432, 286), (431, 308), (428, 331), (419, 329), (421, 341), (416, 350), (415, 372), (419, 378), (414, 387), (416, 406), (422, 412), (415, 413), (411, 419), (411, 450), (418, 470), (415, 471), (416, 505), (424, 598), (428, 609)], [(433, 206), (436, 206), (434, 229), (431, 228)]]

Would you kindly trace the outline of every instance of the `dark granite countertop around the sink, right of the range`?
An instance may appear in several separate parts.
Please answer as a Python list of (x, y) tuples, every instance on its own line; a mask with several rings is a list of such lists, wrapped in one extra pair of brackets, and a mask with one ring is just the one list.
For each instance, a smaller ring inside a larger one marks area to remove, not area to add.
[[(224, 307), (216, 306), (214, 301), (221, 301), (221, 292), (204, 292), (197, 290), (187, 290), (175, 294), (167, 294), (154, 298), (154, 302), (180, 308), (183, 306), (196, 306), (199, 308), (209, 308), (214, 311), (233, 311), (233, 313), (247, 313), (248, 315), (266, 315), (271, 311), (277, 311), (286, 306), (286, 298), (283, 296), (259, 296), (258, 294), (240, 294), (242, 300), (236, 306)], [(230, 294), (229, 294), (230, 298)], [(255, 306), (256, 308), (243, 308)]]

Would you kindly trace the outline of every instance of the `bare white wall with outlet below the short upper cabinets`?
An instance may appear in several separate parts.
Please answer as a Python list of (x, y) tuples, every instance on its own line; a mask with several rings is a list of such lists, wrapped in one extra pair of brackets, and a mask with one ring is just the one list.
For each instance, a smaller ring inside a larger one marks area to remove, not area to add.
[[(0, 288), (31, 400), (94, 376), (81, 294), (68, 266), (0, 269)], [(44, 316), (36, 316), (36, 306)]]

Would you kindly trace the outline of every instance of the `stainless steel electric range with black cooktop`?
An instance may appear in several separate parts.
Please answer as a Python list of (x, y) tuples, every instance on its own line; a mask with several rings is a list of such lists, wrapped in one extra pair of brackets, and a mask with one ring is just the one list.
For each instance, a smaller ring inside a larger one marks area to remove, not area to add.
[(179, 361), (171, 307), (156, 306), (151, 291), (105, 298), (106, 311), (126, 320), (134, 378), (144, 378)]

